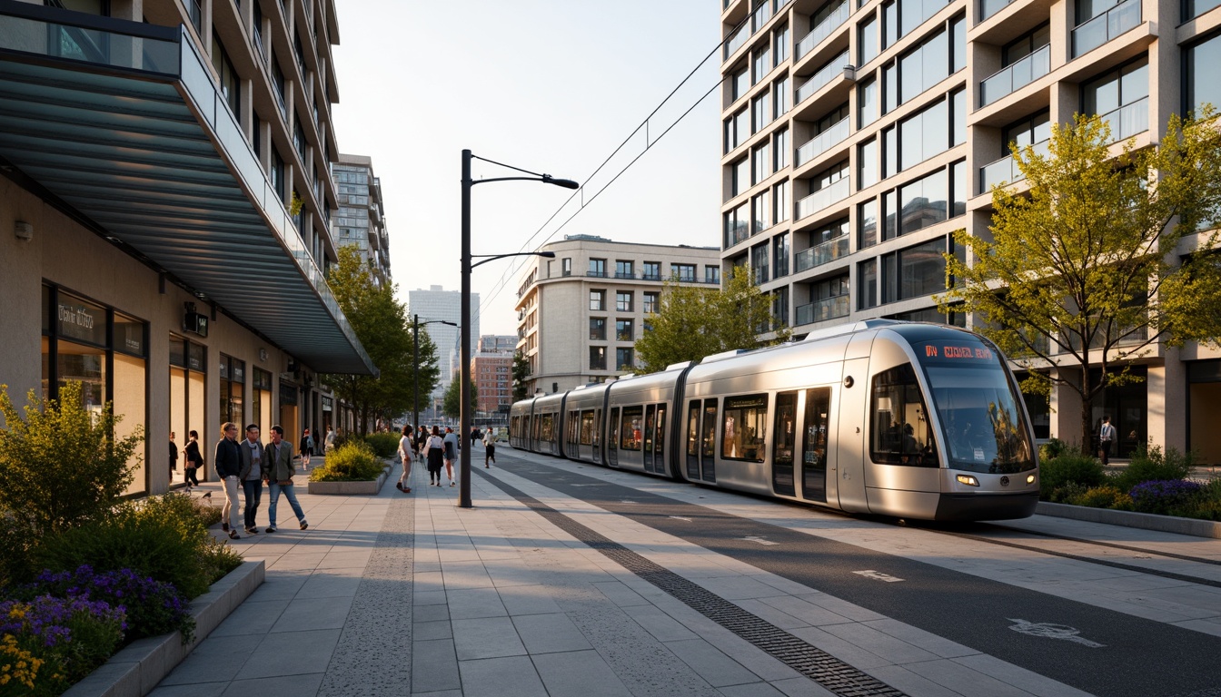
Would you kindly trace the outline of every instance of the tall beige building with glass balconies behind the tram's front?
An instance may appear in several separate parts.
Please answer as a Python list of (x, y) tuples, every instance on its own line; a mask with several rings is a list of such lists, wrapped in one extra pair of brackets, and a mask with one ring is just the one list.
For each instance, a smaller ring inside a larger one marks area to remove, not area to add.
[[(1009, 143), (1083, 112), (1148, 145), (1171, 114), (1221, 104), (1216, 0), (724, 0), (722, 24), (722, 258), (797, 336), (945, 321), (941, 254), (1020, 177)], [(1221, 354), (1158, 347), (1133, 370), (1145, 382), (1095, 406), (1121, 454), (1148, 439), (1221, 461)], [(1067, 392), (1033, 402), (1040, 437), (1081, 439)]]

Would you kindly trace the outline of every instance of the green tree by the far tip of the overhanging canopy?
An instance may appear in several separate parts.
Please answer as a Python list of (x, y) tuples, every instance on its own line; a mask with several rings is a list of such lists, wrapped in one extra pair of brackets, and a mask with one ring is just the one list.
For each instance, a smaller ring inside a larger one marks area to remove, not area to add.
[[(377, 284), (360, 250), (339, 248), (339, 262), (327, 273), (339, 309), (360, 339), (377, 377), (369, 375), (326, 375), (324, 381), (335, 393), (352, 404), (357, 413), (357, 428), (365, 433), (377, 417), (392, 419), (411, 408), (415, 377), (411, 323), (407, 309), (394, 299), (394, 287)], [(429, 394), (437, 385), (436, 347), (420, 337), (420, 393)]]

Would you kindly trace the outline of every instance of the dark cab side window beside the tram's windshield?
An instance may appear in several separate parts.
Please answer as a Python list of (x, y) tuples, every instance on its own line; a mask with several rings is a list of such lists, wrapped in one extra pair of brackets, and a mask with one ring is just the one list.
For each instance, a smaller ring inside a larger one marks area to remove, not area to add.
[(869, 455), (875, 463), (938, 466), (928, 410), (911, 364), (873, 377)]

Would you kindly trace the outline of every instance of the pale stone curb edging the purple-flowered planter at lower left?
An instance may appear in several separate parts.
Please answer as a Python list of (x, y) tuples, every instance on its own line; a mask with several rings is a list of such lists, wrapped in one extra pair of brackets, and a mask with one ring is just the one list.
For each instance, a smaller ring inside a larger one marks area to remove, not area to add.
[(178, 632), (134, 641), (72, 687), (63, 697), (143, 697), (153, 691), (199, 642), (258, 588), (266, 575), (263, 562), (243, 562), (203, 596), (190, 602), (195, 640), (182, 643)]

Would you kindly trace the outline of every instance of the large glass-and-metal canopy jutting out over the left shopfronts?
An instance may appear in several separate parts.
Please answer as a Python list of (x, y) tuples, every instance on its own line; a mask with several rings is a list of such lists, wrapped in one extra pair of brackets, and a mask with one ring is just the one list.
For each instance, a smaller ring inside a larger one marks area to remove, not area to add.
[(0, 0), (0, 157), (324, 372), (369, 359), (182, 27)]

